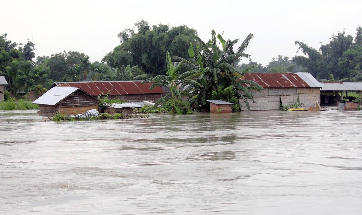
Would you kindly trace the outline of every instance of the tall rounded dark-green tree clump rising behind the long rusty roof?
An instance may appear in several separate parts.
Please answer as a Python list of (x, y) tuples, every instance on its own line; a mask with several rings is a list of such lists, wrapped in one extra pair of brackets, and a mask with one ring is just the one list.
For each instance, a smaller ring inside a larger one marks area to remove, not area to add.
[(159, 24), (151, 27), (149, 22), (142, 20), (135, 23), (132, 29), (125, 29), (118, 34), (121, 45), (106, 54), (102, 62), (114, 68), (137, 65), (151, 76), (165, 74), (166, 51), (186, 58), (189, 44), (196, 35), (196, 30), (185, 25), (170, 27)]

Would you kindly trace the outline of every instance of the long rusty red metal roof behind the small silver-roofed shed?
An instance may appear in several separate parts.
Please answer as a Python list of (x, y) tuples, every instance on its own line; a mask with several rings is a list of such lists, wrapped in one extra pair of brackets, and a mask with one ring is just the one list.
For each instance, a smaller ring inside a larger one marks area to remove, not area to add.
[(150, 94), (167, 93), (161, 87), (149, 90), (152, 83), (141, 84), (142, 81), (79, 81), (79, 82), (54, 82), (57, 87), (78, 87), (92, 96), (129, 95), (129, 94)]

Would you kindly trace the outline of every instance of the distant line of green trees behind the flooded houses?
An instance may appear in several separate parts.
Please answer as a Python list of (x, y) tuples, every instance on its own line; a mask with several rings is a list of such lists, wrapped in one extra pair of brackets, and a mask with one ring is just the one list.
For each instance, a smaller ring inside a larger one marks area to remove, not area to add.
[[(118, 34), (120, 45), (106, 53), (102, 62), (89, 62), (89, 56), (78, 51), (63, 51), (35, 58), (35, 44), (12, 42), (7, 34), (0, 35), (0, 76), (5, 76), (10, 94), (16, 96), (29, 89), (44, 91), (54, 81), (144, 80), (165, 74), (165, 54), (189, 58), (190, 42), (197, 31), (188, 26), (171, 27), (140, 21)], [(257, 64), (251, 72), (282, 73), (310, 72), (317, 79), (334, 77), (362, 80), (362, 28), (356, 36), (345, 31), (332, 35), (331, 41), (319, 50), (296, 41), (298, 50), (306, 56), (278, 55), (267, 66), (250, 59), (248, 64), (236, 63), (240, 70)]]

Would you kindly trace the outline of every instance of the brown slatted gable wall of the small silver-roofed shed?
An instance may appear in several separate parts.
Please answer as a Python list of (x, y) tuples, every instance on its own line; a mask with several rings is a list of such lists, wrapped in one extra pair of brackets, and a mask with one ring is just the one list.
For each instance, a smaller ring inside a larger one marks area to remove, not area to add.
[(64, 115), (75, 115), (87, 110), (98, 110), (98, 101), (81, 91), (73, 93), (59, 104), (59, 112)]

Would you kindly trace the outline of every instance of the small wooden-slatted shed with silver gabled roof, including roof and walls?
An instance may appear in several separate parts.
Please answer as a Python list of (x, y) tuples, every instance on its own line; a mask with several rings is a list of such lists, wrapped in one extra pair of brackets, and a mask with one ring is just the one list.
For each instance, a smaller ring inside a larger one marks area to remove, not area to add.
[(85, 113), (90, 109), (98, 110), (98, 100), (77, 87), (53, 87), (44, 93), (34, 104), (39, 104), (39, 113), (64, 115)]

